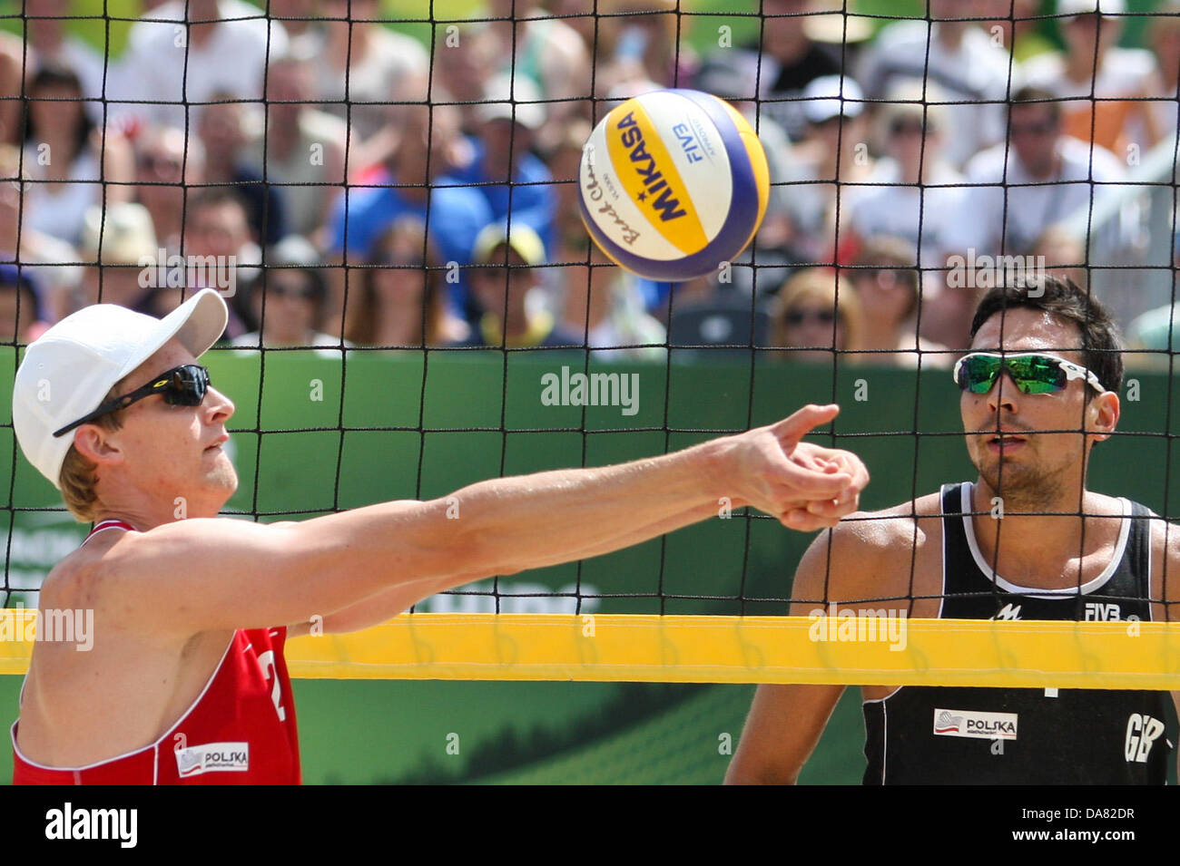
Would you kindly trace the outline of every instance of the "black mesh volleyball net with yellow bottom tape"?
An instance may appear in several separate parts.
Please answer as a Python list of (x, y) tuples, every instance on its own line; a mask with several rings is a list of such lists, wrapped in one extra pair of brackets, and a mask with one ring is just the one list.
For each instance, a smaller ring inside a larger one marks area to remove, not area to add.
[[(1180, 8), (582, 6), (0, 16), (0, 377), (79, 305), (163, 315), (215, 287), (229, 516), (663, 454), (806, 402), (841, 405), (813, 439), (863, 457), (879, 509), (977, 475), (950, 368), (979, 297), (1068, 276), (1127, 338), (1123, 416), (1088, 485), (1167, 533)], [(594, 125), (657, 87), (730, 100), (771, 164), (752, 246), (684, 284), (622, 272), (577, 216)], [(85, 527), (4, 421), (0, 673), (20, 673), (40, 582)], [(1180, 632), (1109, 621), (1104, 597), (1080, 597), (1077, 621), (919, 619), (909, 553), (907, 595), (798, 596), (811, 540), (722, 500), (624, 551), (300, 639), (289, 661), (308, 677), (1180, 687)]]

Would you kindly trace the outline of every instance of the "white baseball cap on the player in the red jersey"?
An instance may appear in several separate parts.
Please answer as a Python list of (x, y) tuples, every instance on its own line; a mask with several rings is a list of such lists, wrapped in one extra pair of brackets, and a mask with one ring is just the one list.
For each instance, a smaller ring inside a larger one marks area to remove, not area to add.
[(20, 450), (53, 487), (74, 430), (54, 430), (98, 409), (114, 384), (176, 337), (199, 357), (225, 330), (229, 312), (204, 289), (162, 319), (116, 304), (94, 304), (30, 344), (12, 389), (12, 423)]

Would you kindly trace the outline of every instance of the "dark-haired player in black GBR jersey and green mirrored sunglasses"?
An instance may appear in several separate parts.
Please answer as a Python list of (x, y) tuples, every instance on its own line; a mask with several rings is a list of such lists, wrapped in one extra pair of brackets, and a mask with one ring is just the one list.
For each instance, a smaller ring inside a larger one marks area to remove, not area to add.
[[(1045, 277), (989, 292), (971, 333), (955, 376), (978, 480), (825, 533), (804, 556), (792, 596), (840, 610), (883, 607), (852, 600), (910, 597), (903, 615), (918, 617), (1146, 621), (1166, 620), (1171, 607), (1175, 619), (1180, 533), (1166, 536), (1147, 508), (1086, 489), (1090, 449), (1119, 423), (1122, 359), (1109, 316), (1073, 283)], [(992, 517), (995, 497), (1002, 520)], [(1169, 604), (1160, 601), (1165, 568)], [(792, 613), (819, 606), (800, 601)], [(727, 781), (794, 782), (843, 692), (760, 687)], [(866, 784), (1167, 778), (1175, 738), (1167, 693), (861, 693)]]

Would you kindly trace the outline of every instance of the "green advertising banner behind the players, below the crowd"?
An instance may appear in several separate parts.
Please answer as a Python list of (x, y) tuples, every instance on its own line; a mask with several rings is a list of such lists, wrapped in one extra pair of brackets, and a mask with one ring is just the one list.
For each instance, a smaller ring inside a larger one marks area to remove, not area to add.
[[(227, 451), (240, 487), (225, 514), (306, 520), (432, 498), (489, 477), (663, 454), (806, 402), (843, 406), (835, 443), (872, 472), (867, 509), (974, 477), (945, 370), (678, 355), (605, 365), (577, 352), (350, 352), (342, 362), (327, 352), (214, 351), (212, 381), (236, 404)], [(13, 370), (0, 375), (9, 392)], [(1121, 435), (1097, 447), (1092, 488), (1176, 513), (1171, 389), (1166, 376), (1129, 373)], [(0, 423), (13, 454), (0, 468), (7, 604), (34, 606), (44, 576), (87, 528), (17, 452), (7, 401)], [(785, 614), (811, 537), (719, 502), (719, 518), (664, 538), (481, 581), (418, 609)], [(19, 685), (0, 677), (5, 723), (17, 715)], [(725, 774), (753, 688), (302, 680), (295, 692), (308, 782), (712, 784)], [(851, 689), (802, 780), (859, 781), (863, 736)], [(7, 748), (0, 779), (11, 779)]]

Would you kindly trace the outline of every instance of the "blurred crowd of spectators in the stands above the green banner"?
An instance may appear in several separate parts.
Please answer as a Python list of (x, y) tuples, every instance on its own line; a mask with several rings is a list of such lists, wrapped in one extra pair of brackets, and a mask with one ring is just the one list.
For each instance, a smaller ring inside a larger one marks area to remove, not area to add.
[[(24, 38), (0, 33), (0, 342), (215, 285), (243, 350), (949, 366), (989, 267), (1107, 264), (1077, 213), (1175, 141), (1180, 0), (1133, 40), (1122, 0), (841, 8), (763, 0), (742, 42), (691, 0), (489, 0), (420, 32), (376, 0), (166, 0), (104, 52), (70, 0), (25, 0)], [(576, 200), (594, 124), (663, 87), (729, 100), (771, 165), (753, 247), (681, 284), (612, 265)], [(1116, 244), (1143, 244), (1132, 205)], [(229, 284), (170, 264), (192, 257), (232, 260)], [(1127, 309), (1169, 346), (1176, 311)]]

